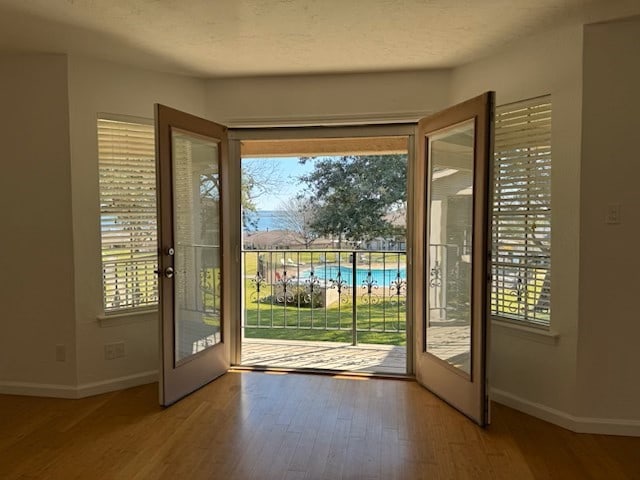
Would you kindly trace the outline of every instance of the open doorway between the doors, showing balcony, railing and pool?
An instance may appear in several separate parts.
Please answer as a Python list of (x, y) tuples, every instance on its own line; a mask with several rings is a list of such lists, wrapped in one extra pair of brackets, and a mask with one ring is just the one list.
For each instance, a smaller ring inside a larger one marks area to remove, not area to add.
[(241, 365), (408, 373), (408, 144), (241, 142)]

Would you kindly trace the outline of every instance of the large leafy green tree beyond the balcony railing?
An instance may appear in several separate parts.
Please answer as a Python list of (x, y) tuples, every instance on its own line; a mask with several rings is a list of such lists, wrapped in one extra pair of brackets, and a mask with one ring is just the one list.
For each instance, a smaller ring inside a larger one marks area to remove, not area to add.
[(300, 179), (308, 186), (306, 198), (315, 206), (311, 230), (337, 238), (339, 248), (345, 239), (357, 242), (404, 234), (405, 228), (389, 221), (389, 214), (406, 206), (406, 155), (320, 158)]

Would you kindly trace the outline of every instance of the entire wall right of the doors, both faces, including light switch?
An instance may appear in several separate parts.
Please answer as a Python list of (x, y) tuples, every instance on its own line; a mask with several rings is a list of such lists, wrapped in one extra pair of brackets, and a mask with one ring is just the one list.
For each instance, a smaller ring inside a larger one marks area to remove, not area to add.
[[(577, 431), (640, 433), (640, 20), (576, 23), (456, 69), (453, 101), (553, 102), (552, 331), (493, 324), (494, 398)], [(583, 65), (584, 59), (584, 65)], [(623, 221), (607, 225), (608, 204)]]

